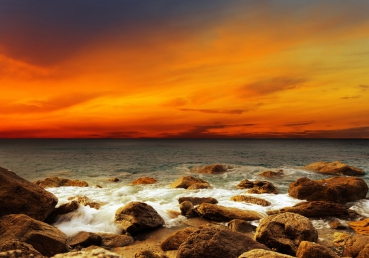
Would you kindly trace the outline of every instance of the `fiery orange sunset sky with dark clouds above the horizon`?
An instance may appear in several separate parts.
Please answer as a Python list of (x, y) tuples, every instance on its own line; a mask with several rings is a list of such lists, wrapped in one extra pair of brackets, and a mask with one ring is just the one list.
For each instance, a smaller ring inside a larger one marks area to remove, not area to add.
[(368, 10), (0, 0), (0, 138), (369, 138)]

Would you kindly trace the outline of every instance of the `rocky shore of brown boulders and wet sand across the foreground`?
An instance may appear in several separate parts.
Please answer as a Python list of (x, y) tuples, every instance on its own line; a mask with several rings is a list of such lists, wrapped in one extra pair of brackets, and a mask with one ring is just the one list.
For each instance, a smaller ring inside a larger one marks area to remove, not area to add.
[[(211, 196), (182, 197), (178, 200), (181, 212), (173, 216), (185, 216), (186, 222), (164, 228), (163, 218), (152, 206), (132, 201), (115, 212), (120, 234), (81, 231), (68, 237), (53, 226), (59, 216), (81, 205), (99, 209), (104, 203), (79, 196), (57, 206), (57, 197), (44, 188), (89, 187), (88, 183), (58, 177), (31, 183), (0, 168), (0, 257), (369, 257), (369, 218), (349, 209), (350, 203), (366, 198), (368, 185), (360, 178), (365, 173), (340, 162), (317, 162), (305, 169), (330, 177), (294, 181), (288, 194), (305, 201), (267, 215), (219, 205)], [(170, 187), (188, 191), (211, 188), (197, 174), (231, 170), (222, 164), (196, 167), (193, 176), (178, 178)], [(283, 171), (261, 175), (280, 177)], [(131, 184), (155, 182), (154, 178), (141, 178)], [(231, 198), (235, 202), (268, 206), (267, 200), (248, 194), (279, 194), (267, 180), (245, 179), (235, 187), (245, 189), (243, 195)], [(316, 229), (312, 223), (316, 218), (328, 220), (330, 229)], [(348, 221), (349, 226), (339, 219)], [(258, 221), (258, 226), (251, 221)]]

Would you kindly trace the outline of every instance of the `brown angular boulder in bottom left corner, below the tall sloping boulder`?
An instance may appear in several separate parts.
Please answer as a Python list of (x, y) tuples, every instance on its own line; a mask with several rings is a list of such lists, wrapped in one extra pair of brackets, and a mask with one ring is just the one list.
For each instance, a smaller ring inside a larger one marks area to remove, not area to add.
[(20, 241), (30, 244), (44, 256), (68, 251), (67, 236), (56, 227), (24, 214), (0, 218), (0, 243)]

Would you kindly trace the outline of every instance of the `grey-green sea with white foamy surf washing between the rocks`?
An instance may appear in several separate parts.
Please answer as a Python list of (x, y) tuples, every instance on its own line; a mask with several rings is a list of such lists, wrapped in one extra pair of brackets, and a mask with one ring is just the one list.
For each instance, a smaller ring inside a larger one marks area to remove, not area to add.
[[(165, 220), (164, 227), (185, 225), (188, 218), (180, 213), (178, 198), (214, 197), (218, 204), (259, 212), (293, 206), (302, 200), (288, 195), (289, 184), (301, 177), (332, 177), (304, 170), (317, 161), (341, 161), (365, 171), (369, 184), (369, 139), (0, 139), (0, 167), (9, 169), (31, 182), (46, 177), (84, 180), (89, 187), (46, 188), (59, 199), (86, 196), (100, 202), (100, 209), (80, 206), (61, 216), (54, 226), (68, 236), (80, 231), (119, 233), (114, 223), (116, 210), (131, 201), (151, 205)], [(194, 174), (194, 166), (231, 165), (224, 174)], [(280, 178), (264, 178), (266, 170), (280, 170)], [(182, 176), (208, 181), (211, 189), (186, 190), (170, 188)], [(109, 178), (116, 177), (118, 182)], [(153, 177), (151, 185), (129, 185), (140, 177)], [(266, 180), (279, 194), (251, 194), (270, 201), (270, 206), (231, 201), (245, 194), (236, 185), (243, 179)], [(363, 217), (369, 217), (369, 200), (349, 204)], [(315, 219), (317, 229), (328, 228), (329, 219)], [(253, 221), (258, 225), (259, 221)], [(347, 224), (347, 221), (341, 220)]]

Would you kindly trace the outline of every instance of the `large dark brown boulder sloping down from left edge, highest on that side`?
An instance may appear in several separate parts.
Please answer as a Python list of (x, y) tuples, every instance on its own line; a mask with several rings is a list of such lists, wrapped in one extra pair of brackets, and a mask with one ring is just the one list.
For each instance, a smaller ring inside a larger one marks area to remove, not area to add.
[(58, 198), (52, 193), (0, 168), (0, 217), (26, 214), (44, 221), (57, 203)]

